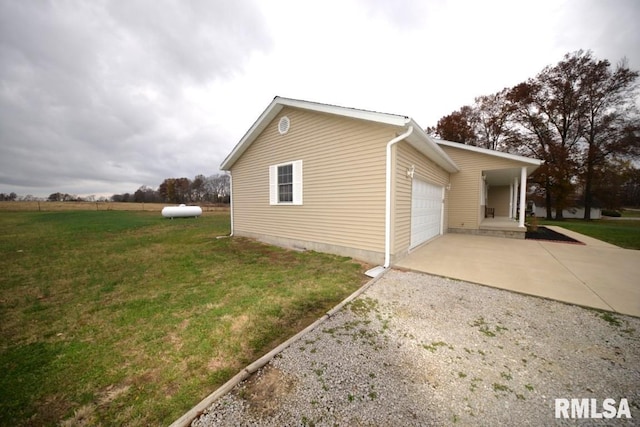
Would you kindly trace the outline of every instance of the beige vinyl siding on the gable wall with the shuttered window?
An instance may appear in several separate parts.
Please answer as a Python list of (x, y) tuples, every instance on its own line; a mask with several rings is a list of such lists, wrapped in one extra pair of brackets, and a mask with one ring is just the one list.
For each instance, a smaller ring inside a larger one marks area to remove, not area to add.
[[(285, 135), (277, 130), (290, 119)], [(233, 165), (234, 231), (384, 252), (385, 149), (394, 129), (283, 109)], [(303, 204), (269, 205), (269, 166), (303, 162)]]

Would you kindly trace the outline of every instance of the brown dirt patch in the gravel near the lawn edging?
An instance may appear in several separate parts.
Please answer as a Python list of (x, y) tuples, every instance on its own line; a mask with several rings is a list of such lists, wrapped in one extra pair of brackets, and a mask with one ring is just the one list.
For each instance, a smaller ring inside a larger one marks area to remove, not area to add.
[(278, 412), (281, 401), (294, 387), (293, 378), (267, 365), (249, 378), (237, 394), (256, 415), (272, 416)]

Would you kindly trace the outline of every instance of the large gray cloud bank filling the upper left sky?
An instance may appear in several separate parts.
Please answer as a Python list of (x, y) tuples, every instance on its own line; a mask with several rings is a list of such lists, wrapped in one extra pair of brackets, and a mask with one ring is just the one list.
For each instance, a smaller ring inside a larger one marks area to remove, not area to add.
[(0, 192), (114, 193), (215, 173), (222, 135), (194, 121), (183, 90), (229, 78), (270, 48), (255, 10), (0, 2)]

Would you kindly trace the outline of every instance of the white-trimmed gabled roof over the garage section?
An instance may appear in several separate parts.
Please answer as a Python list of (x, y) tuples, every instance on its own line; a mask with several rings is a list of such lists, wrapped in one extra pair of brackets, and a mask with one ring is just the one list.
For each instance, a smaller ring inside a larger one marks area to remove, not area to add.
[(231, 166), (242, 156), (251, 146), (253, 141), (264, 131), (271, 121), (282, 111), (284, 107), (299, 108), (318, 113), (335, 114), (337, 116), (349, 117), (358, 120), (367, 120), (398, 127), (398, 133), (404, 133), (413, 126), (413, 132), (406, 138), (406, 141), (415, 149), (429, 157), (448, 172), (458, 172), (459, 169), (451, 158), (445, 153), (434, 140), (429, 137), (424, 130), (410, 117), (397, 114), (380, 113), (376, 111), (360, 110), (357, 108), (340, 107), (337, 105), (321, 104), (318, 102), (302, 101), (298, 99), (282, 98), (276, 96), (271, 104), (258, 117), (253, 126), (242, 137), (240, 142), (233, 148), (231, 153), (220, 165), (222, 170), (230, 170)]

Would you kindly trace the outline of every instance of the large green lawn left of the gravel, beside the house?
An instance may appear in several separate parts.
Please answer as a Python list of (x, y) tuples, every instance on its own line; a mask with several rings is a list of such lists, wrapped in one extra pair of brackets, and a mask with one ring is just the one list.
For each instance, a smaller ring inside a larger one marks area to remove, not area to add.
[(365, 281), (229, 217), (0, 213), (0, 425), (167, 425)]

